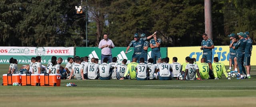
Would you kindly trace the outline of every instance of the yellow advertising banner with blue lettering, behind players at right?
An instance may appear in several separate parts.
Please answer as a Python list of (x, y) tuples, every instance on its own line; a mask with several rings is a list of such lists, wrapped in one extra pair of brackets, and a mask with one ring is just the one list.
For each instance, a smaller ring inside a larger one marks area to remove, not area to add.
[[(255, 47), (252, 46), (252, 47)], [(179, 63), (184, 63), (186, 56), (190, 56), (190, 58), (196, 58), (196, 61), (200, 62), (202, 58), (203, 51), (200, 50), (200, 47), (168, 47), (168, 57), (172, 59), (172, 57), (177, 57)], [(256, 65), (256, 56), (253, 55), (256, 53), (255, 49), (252, 49), (251, 56), (251, 65)], [(215, 46), (212, 49), (212, 62), (213, 58), (218, 57), (220, 62), (223, 62), (225, 65), (229, 65), (229, 46)]]

